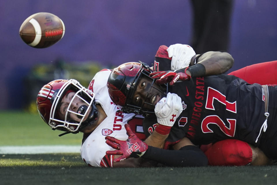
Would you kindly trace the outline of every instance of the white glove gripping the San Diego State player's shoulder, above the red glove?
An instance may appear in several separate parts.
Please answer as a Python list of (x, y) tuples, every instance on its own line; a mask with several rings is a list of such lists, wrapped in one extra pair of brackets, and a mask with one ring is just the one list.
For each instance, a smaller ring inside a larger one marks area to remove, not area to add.
[(190, 65), (191, 58), (195, 55), (195, 51), (186, 44), (174, 44), (167, 48), (169, 58), (171, 60), (171, 70), (183, 69)]

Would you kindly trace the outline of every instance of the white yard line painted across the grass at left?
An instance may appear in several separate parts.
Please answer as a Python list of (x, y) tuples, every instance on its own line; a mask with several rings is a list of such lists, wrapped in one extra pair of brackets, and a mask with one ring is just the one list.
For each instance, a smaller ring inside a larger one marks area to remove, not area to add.
[(0, 146), (0, 154), (80, 153), (80, 145)]

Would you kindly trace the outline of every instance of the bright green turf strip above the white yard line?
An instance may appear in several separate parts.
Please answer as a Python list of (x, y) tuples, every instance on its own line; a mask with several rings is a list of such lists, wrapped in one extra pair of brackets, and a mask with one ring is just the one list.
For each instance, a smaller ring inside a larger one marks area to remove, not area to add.
[(80, 145), (82, 134), (53, 131), (39, 114), (28, 112), (0, 112), (0, 146), (8, 145)]

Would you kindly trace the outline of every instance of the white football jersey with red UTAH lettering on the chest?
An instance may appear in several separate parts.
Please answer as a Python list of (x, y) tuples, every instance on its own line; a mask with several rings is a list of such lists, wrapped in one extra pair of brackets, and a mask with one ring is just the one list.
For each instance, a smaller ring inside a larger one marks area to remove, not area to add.
[[(143, 117), (135, 114), (123, 113), (111, 100), (106, 86), (111, 70), (102, 70), (93, 77), (89, 89), (95, 93), (95, 101), (105, 111), (107, 117), (86, 138), (81, 147), (81, 157), (89, 166), (113, 167), (113, 156), (106, 155), (106, 151), (115, 150), (105, 143), (106, 136), (119, 140), (128, 139), (125, 124), (129, 123), (136, 134), (143, 134)], [(132, 124), (133, 123), (133, 124)]]

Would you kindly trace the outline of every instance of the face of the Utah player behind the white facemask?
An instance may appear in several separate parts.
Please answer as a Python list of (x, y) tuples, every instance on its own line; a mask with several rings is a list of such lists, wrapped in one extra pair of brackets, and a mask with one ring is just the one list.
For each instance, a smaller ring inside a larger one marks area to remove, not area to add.
[[(61, 100), (60, 107), (58, 110), (58, 114), (61, 119), (65, 119), (65, 114), (68, 110), (68, 106), (69, 106), (69, 110), (72, 112), (77, 113), (77, 112), (81, 111), (81, 114), (85, 113), (85, 110), (78, 110), (78, 109), (84, 105), (88, 106), (88, 104), (85, 103), (85, 101), (83, 101), (79, 97), (77, 97), (77, 96), (74, 97), (74, 95), (75, 95), (75, 92), (67, 93)], [(74, 97), (74, 99), (73, 99), (72, 103), (70, 104), (70, 101), (72, 100), (73, 97)], [(88, 112), (90, 112), (90, 111), (91, 111), (91, 106), (89, 106)], [(82, 119), (82, 116), (78, 116), (77, 114), (74, 114), (72, 112), (67, 113), (66, 120), (74, 120), (74, 121), (80, 122)], [(87, 117), (88, 117), (88, 113), (85, 115), (85, 118), (83, 120), (86, 120)]]

